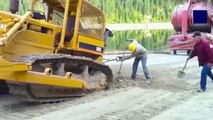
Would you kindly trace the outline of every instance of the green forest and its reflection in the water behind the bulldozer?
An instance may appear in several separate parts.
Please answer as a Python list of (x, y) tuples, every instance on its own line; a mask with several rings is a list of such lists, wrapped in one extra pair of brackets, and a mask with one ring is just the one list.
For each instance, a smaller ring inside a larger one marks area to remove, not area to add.
[[(18, 14), (29, 10), (31, 0), (19, 0)], [(100, 8), (106, 18), (106, 24), (132, 23), (170, 23), (176, 5), (186, 0), (87, 0)], [(10, 0), (0, 0), (0, 10), (9, 11)], [(38, 10), (43, 11), (42, 6)], [(169, 37), (173, 30), (127, 30), (113, 31), (114, 36), (107, 42), (107, 50), (126, 49), (127, 38), (137, 39), (148, 50), (168, 48)]]

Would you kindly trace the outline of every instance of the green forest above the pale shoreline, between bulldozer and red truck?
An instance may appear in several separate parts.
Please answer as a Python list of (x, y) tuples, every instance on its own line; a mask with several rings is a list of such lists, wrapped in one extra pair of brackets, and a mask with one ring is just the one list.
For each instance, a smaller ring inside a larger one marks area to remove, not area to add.
[[(106, 15), (108, 23), (170, 22), (177, 4), (185, 0), (87, 0)], [(150, 19), (147, 17), (151, 16)]]

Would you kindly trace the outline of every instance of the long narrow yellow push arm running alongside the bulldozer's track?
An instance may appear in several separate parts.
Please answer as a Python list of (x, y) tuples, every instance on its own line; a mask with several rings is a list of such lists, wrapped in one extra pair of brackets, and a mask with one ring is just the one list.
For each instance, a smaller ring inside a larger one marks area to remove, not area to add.
[(85, 88), (86, 82), (78, 79), (70, 79), (55, 75), (46, 75), (37, 72), (1, 72), (0, 79), (6, 79), (10, 82), (30, 83), (40, 85), (51, 85), (71, 88)]

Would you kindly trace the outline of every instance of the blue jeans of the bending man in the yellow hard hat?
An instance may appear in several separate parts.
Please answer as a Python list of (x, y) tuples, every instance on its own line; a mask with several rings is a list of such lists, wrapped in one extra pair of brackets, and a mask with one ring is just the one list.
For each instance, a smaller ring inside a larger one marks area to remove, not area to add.
[(137, 70), (138, 70), (138, 63), (140, 61), (141, 61), (141, 65), (142, 65), (142, 68), (143, 68), (144, 75), (145, 75), (146, 79), (148, 80), (148, 79), (150, 79), (150, 74), (149, 74), (148, 68), (146, 67), (147, 56), (135, 57), (135, 60), (134, 60), (133, 66), (132, 66), (131, 78), (132, 79), (136, 78), (136, 74), (137, 74)]

